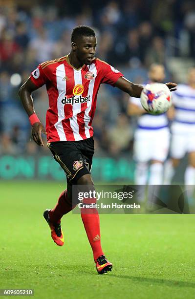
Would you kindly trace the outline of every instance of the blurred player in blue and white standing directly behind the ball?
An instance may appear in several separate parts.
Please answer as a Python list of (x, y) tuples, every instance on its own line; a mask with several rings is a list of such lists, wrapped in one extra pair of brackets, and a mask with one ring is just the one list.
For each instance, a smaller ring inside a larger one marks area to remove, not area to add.
[[(147, 84), (162, 83), (165, 79), (164, 66), (152, 64), (148, 77)], [(163, 183), (163, 163), (167, 158), (170, 142), (167, 114), (151, 115), (147, 113), (141, 106), (140, 100), (134, 97), (130, 97), (128, 113), (138, 117), (133, 147), (136, 161), (135, 184), (161, 185)], [(149, 171), (150, 177), (148, 178)], [(145, 188), (142, 188), (142, 191), (145, 192)]]

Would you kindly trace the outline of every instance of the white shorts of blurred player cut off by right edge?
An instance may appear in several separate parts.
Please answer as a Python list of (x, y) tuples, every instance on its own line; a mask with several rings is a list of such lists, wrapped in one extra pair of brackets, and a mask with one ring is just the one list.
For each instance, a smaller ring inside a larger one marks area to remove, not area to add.
[(187, 152), (195, 151), (195, 126), (173, 123), (171, 157), (181, 159)]

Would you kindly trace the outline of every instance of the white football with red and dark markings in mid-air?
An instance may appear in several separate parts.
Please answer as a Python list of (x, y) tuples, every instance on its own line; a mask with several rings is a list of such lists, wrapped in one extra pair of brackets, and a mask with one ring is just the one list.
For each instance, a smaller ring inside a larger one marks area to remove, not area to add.
[(150, 114), (158, 115), (172, 106), (172, 95), (167, 85), (162, 83), (147, 84), (141, 92), (142, 107)]

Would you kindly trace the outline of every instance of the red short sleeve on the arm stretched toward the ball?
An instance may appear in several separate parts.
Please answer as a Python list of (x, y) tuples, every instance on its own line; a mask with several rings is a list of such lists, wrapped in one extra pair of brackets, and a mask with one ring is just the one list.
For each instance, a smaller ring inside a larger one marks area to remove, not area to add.
[(114, 68), (110, 64), (105, 63), (102, 65), (102, 74), (103, 78), (101, 83), (106, 83), (112, 86), (120, 77), (123, 77), (123, 74), (119, 72), (116, 68)]

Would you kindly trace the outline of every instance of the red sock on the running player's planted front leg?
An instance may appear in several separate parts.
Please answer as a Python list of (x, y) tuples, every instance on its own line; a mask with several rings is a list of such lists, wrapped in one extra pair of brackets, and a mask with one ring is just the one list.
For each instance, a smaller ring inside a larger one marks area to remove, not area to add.
[[(83, 202), (85, 202), (83, 200)], [(94, 201), (93, 201), (94, 202)], [(96, 202), (96, 199), (95, 199)], [(88, 202), (87, 202), (88, 203)], [(97, 209), (81, 209), (81, 217), (85, 226), (86, 234), (93, 251), (94, 261), (104, 255), (100, 240), (100, 218)]]

